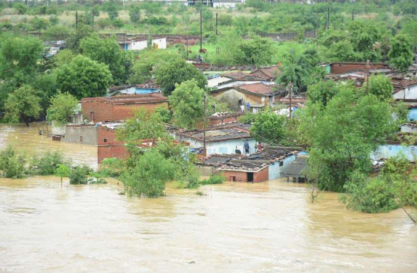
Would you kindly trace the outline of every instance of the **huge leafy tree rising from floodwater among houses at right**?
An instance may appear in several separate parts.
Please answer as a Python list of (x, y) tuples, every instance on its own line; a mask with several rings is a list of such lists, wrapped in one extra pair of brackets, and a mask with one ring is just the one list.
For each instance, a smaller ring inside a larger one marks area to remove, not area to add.
[(390, 106), (373, 94), (358, 99), (347, 86), (325, 109), (307, 108), (300, 128), (310, 139), (309, 178), (321, 189), (342, 192), (354, 172), (370, 170), (371, 152), (393, 131)]

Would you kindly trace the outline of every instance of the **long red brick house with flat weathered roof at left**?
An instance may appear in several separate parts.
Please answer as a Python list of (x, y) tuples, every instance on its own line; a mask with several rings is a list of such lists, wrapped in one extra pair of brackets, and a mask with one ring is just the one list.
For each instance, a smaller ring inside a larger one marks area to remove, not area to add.
[(160, 93), (81, 99), (82, 114), (92, 122), (125, 120), (134, 110), (152, 111), (160, 106), (168, 108), (168, 98)]

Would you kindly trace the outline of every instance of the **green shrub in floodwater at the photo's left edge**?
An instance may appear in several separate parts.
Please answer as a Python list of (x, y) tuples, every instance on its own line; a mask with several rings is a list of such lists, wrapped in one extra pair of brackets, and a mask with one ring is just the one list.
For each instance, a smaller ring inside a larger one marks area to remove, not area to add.
[(0, 151), (0, 176), (6, 178), (22, 178), (26, 172), (25, 158), (16, 155), (11, 146)]

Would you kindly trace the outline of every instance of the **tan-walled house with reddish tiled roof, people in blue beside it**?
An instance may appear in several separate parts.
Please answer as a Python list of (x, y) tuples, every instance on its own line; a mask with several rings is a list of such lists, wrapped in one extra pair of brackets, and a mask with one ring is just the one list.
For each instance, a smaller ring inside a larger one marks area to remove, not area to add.
[(272, 106), (277, 98), (285, 95), (282, 87), (262, 82), (225, 87), (211, 91), (216, 99), (229, 104), (232, 110), (239, 111), (238, 102), (242, 99), (243, 105)]

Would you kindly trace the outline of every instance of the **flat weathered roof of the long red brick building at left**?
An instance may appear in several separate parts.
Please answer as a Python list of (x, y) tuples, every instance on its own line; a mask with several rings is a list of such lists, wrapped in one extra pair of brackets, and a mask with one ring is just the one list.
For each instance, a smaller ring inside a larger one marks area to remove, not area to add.
[(93, 97), (83, 98), (82, 102), (101, 101), (111, 104), (137, 104), (137, 103), (155, 103), (155, 102), (167, 102), (168, 98), (161, 93), (151, 94), (137, 94), (137, 95), (119, 95), (111, 97)]

